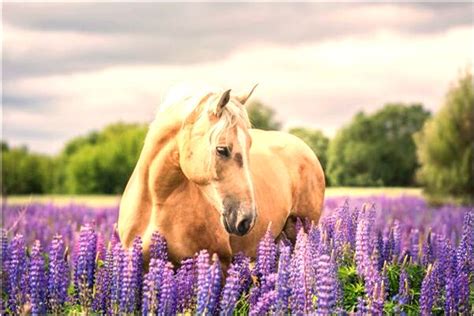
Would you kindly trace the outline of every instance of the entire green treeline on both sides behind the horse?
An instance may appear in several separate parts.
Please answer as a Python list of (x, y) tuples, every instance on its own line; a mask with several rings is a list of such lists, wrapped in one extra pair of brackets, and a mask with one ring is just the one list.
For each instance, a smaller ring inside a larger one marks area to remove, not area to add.
[[(255, 128), (280, 129), (274, 111), (248, 107)], [(56, 157), (2, 144), (3, 194), (120, 194), (140, 154), (144, 124), (112, 124), (68, 142)], [(292, 128), (317, 154), (333, 186), (423, 185), (435, 195), (474, 195), (472, 74), (451, 87), (434, 116), (421, 104), (386, 104), (356, 114), (333, 139), (311, 128)]]

